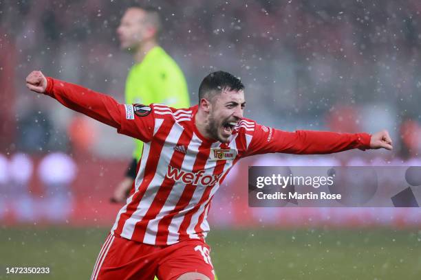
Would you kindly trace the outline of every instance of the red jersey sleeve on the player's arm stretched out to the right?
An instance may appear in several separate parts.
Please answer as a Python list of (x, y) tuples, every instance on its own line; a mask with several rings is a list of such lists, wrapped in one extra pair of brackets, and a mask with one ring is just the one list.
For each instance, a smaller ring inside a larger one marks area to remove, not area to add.
[(255, 125), (246, 156), (283, 152), (285, 154), (330, 154), (358, 148), (369, 149), (367, 133), (337, 133), (312, 130), (286, 132)]

